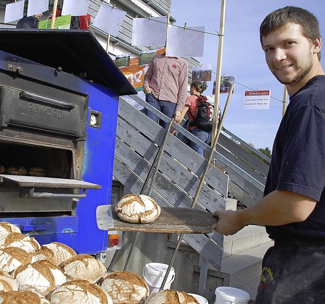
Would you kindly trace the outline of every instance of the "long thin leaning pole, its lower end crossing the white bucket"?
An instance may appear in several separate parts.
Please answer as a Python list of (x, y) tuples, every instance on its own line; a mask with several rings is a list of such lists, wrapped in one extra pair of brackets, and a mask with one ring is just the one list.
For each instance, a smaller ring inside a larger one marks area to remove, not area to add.
[[(211, 163), (211, 160), (212, 160), (212, 157), (213, 157), (213, 154), (214, 154), (214, 150), (215, 150), (215, 148), (216, 148), (216, 146), (217, 146), (217, 142), (218, 142), (218, 139), (219, 139), (219, 136), (220, 136), (220, 132), (221, 132), (221, 129), (222, 129), (222, 125), (223, 125), (223, 122), (224, 122), (224, 118), (225, 118), (225, 113), (227, 112), (228, 105), (229, 105), (229, 102), (230, 102), (230, 99), (231, 99), (231, 95), (232, 95), (232, 93), (233, 93), (233, 90), (234, 90), (234, 85), (231, 85), (230, 90), (229, 90), (229, 94), (228, 94), (228, 98), (227, 98), (226, 103), (225, 103), (225, 105), (224, 105), (224, 110), (223, 110), (223, 113), (222, 113), (222, 118), (221, 118), (221, 121), (220, 121), (220, 126), (219, 126), (219, 128), (218, 128), (218, 132), (217, 132), (217, 134), (216, 134), (216, 137), (215, 137), (215, 139), (214, 139), (214, 141), (213, 141), (213, 146), (212, 146), (212, 148), (211, 148), (211, 153), (210, 153), (210, 156), (209, 156), (209, 160), (207, 161), (207, 165), (206, 165), (205, 170), (204, 170), (204, 172), (203, 172), (203, 174), (202, 174), (201, 181), (200, 181), (200, 184), (199, 184), (199, 186), (198, 186), (197, 193), (196, 193), (196, 195), (195, 195), (195, 197), (194, 197), (194, 199), (193, 199), (193, 203), (192, 203), (191, 208), (194, 208), (195, 205), (196, 205), (196, 203), (197, 203), (197, 199), (198, 199), (198, 197), (199, 197), (199, 194), (200, 194), (200, 191), (201, 191), (202, 185), (203, 185), (203, 183), (204, 183), (204, 180), (205, 180), (205, 177), (206, 177), (206, 175), (207, 175), (207, 172), (208, 172), (208, 170), (209, 170), (209, 168), (210, 168), (210, 163)], [(212, 138), (212, 140), (213, 140), (213, 138)], [(183, 240), (183, 236), (184, 236), (183, 233), (180, 234), (180, 236), (179, 236), (178, 242), (177, 242), (176, 247), (175, 247), (175, 249), (174, 249), (173, 256), (172, 256), (171, 261), (170, 261), (170, 263), (169, 263), (169, 265), (168, 265), (168, 269), (167, 269), (167, 271), (166, 271), (166, 274), (165, 274), (165, 277), (164, 277), (163, 283), (161, 283), (161, 286), (160, 286), (159, 290), (163, 290), (164, 287), (165, 287), (165, 284), (166, 284), (166, 281), (167, 281), (168, 275), (169, 275), (169, 273), (170, 273), (170, 271), (171, 271), (171, 269), (172, 269), (172, 266), (173, 266), (173, 264), (174, 264), (174, 261), (175, 261), (175, 258), (176, 258), (176, 255), (177, 255), (177, 252), (178, 252), (178, 250), (179, 250), (179, 247), (181, 246), (181, 242), (182, 242), (182, 240)]]

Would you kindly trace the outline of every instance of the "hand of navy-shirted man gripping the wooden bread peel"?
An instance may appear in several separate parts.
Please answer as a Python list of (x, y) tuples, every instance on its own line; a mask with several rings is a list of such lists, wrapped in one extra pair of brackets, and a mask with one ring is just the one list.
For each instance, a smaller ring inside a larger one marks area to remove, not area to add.
[(233, 235), (239, 232), (245, 226), (240, 222), (240, 213), (241, 210), (215, 211), (213, 216), (218, 217), (219, 222), (214, 230), (218, 233), (224, 234), (225, 236)]

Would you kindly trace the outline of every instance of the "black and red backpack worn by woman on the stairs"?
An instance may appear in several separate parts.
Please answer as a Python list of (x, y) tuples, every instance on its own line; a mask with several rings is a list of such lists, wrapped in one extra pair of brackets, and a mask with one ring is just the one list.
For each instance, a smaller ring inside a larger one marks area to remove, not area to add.
[[(214, 100), (208, 100), (206, 96), (198, 96), (198, 108), (197, 115), (194, 118), (190, 110), (188, 110), (192, 121), (189, 122), (189, 126), (195, 126), (205, 131), (212, 131), (213, 129), (213, 114), (214, 114)], [(218, 113), (218, 124), (220, 114)]]

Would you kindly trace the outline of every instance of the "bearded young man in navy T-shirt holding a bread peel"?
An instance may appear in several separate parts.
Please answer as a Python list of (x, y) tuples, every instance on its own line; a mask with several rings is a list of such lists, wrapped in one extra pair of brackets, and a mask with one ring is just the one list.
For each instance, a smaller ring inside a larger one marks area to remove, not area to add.
[(318, 21), (285, 7), (260, 27), (266, 62), (290, 96), (277, 132), (265, 197), (251, 208), (216, 211), (216, 231), (266, 225), (256, 304), (325, 303), (325, 75)]

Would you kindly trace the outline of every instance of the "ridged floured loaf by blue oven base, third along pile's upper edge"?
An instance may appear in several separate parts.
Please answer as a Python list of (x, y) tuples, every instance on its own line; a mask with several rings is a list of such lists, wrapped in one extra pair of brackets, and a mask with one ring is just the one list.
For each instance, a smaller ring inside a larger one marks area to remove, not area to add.
[(76, 255), (77, 253), (72, 248), (58, 242), (45, 244), (36, 252), (39, 261), (46, 259), (57, 266)]

